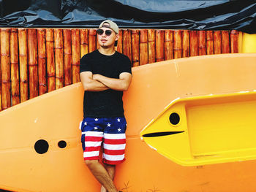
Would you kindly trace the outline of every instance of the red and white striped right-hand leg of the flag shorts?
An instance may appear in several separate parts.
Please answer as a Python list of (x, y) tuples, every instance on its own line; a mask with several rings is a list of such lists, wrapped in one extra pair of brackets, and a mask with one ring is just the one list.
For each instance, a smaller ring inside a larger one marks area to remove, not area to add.
[(125, 145), (125, 134), (104, 134), (103, 162), (106, 164), (119, 164), (123, 162)]

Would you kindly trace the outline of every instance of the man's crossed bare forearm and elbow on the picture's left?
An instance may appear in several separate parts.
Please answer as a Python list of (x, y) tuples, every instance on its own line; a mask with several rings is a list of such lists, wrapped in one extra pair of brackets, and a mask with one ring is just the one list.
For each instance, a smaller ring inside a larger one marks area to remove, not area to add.
[(83, 84), (85, 91), (105, 91), (108, 86), (104, 85), (102, 82), (94, 80), (92, 72), (81, 72), (80, 79)]

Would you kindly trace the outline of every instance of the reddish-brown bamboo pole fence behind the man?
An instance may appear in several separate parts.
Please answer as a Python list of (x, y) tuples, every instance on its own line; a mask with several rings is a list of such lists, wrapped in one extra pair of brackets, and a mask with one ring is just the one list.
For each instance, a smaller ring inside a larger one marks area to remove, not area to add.
[[(96, 50), (95, 28), (1, 28), (0, 111), (80, 81), (80, 58)], [(121, 29), (116, 50), (132, 66), (238, 53), (239, 31)]]

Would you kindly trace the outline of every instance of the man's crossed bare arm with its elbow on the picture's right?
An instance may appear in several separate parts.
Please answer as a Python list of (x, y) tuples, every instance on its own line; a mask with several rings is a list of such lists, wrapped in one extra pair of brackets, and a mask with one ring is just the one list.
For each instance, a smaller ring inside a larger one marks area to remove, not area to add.
[(119, 79), (105, 77), (101, 74), (93, 74), (93, 79), (102, 82), (102, 84), (113, 90), (127, 91), (132, 80), (132, 74), (122, 72), (119, 75)]

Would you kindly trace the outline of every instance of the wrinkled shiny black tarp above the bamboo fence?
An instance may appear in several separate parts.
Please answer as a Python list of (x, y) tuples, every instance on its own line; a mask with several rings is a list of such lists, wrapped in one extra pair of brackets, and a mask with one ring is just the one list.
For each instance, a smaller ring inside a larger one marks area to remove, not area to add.
[(237, 29), (256, 33), (256, 1), (0, 0), (0, 27)]

